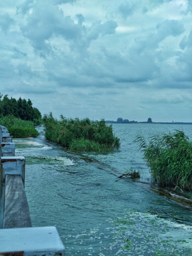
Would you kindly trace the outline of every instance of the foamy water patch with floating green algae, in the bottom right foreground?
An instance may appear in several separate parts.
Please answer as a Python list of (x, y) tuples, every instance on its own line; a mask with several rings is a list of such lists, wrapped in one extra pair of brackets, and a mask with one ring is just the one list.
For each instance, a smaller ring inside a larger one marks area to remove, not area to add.
[(121, 218), (106, 220), (105, 230), (98, 225), (74, 235), (74, 241), (80, 247), (89, 244), (87, 253), (90, 255), (95, 252), (94, 244), (97, 242), (100, 244), (97, 255), (100, 256), (190, 256), (191, 231), (188, 225), (130, 210)]

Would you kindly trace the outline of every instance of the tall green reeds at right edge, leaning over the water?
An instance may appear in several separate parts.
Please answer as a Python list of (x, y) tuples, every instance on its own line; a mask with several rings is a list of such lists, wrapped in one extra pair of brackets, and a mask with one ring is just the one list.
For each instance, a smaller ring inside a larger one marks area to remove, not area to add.
[(192, 189), (192, 142), (182, 132), (149, 137), (138, 136), (135, 142), (144, 153), (151, 176), (158, 186)]

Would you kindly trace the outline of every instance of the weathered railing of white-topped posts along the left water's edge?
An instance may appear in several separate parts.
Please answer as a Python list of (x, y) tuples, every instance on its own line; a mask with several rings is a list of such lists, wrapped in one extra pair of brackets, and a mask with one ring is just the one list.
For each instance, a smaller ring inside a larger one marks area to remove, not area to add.
[(15, 144), (0, 126), (0, 256), (65, 255), (55, 227), (31, 228), (26, 198), (23, 156), (15, 156)]

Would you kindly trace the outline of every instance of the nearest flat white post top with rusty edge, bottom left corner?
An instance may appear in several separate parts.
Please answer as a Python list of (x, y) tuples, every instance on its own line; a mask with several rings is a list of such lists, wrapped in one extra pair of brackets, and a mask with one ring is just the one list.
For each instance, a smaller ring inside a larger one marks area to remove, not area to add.
[(55, 227), (0, 230), (2, 256), (64, 256), (65, 247)]

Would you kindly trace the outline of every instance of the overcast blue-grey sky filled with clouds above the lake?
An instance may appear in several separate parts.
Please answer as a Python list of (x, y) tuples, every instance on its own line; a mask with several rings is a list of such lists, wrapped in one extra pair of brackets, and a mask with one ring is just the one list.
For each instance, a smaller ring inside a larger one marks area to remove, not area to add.
[(192, 122), (191, 0), (6, 0), (0, 92), (41, 114)]

